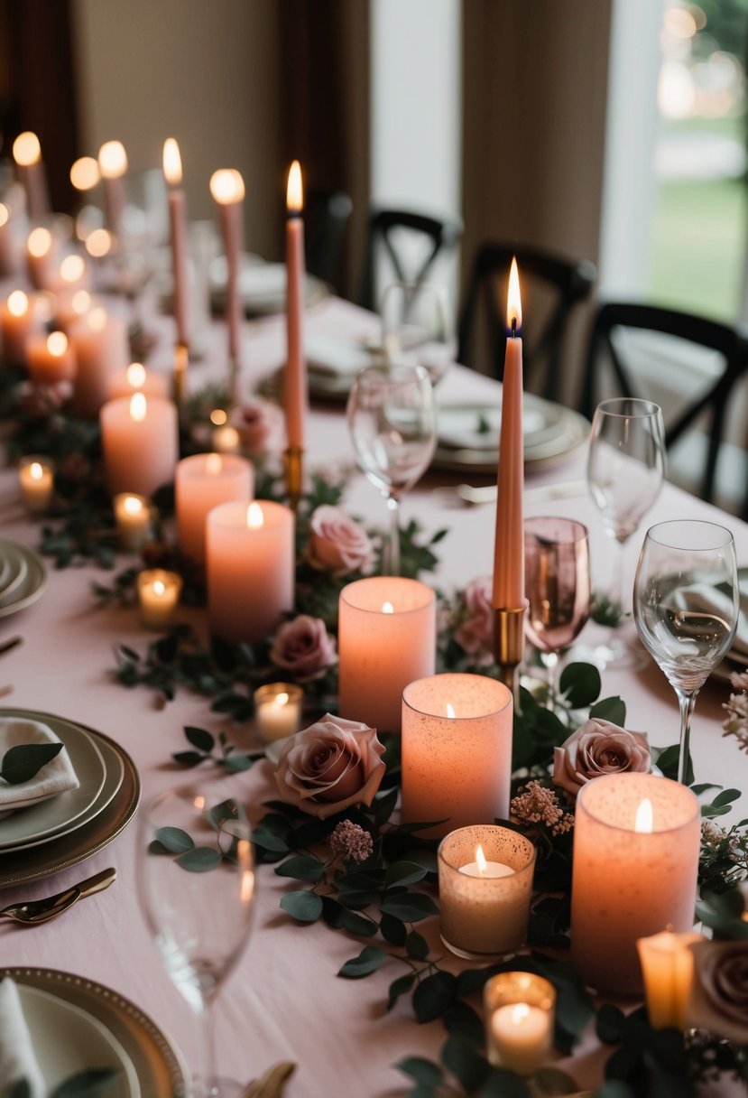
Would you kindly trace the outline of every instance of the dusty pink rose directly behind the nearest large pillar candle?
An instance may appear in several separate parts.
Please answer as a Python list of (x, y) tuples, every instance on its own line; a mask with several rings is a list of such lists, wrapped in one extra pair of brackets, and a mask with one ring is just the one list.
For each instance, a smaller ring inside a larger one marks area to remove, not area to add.
[(627, 732), (610, 720), (592, 718), (553, 750), (553, 782), (571, 796), (593, 777), (651, 770), (646, 732)]

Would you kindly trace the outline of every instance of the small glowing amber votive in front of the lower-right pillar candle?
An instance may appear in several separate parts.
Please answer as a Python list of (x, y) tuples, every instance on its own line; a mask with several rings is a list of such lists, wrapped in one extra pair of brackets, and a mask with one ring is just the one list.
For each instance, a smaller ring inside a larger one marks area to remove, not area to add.
[(693, 953), (689, 946), (704, 940), (704, 935), (695, 931), (673, 934), (664, 930), (660, 934), (637, 941), (647, 1013), (654, 1029), (667, 1026), (680, 1030), (687, 1028), (687, 1008), (693, 982)]

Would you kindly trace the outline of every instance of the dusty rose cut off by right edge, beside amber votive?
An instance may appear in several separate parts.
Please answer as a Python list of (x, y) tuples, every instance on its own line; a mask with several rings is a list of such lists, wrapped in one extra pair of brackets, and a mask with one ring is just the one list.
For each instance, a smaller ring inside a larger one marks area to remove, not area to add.
[(748, 1043), (748, 940), (689, 948), (694, 957), (689, 1026)]

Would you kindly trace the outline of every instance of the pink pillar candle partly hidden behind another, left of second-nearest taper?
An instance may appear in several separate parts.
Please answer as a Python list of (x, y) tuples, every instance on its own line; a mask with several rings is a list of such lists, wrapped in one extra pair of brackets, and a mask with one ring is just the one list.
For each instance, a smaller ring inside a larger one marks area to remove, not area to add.
[(182, 458), (174, 479), (179, 547), (185, 556), (205, 560), (205, 520), (222, 503), (249, 503), (254, 492), (254, 468), (231, 453), (195, 453)]

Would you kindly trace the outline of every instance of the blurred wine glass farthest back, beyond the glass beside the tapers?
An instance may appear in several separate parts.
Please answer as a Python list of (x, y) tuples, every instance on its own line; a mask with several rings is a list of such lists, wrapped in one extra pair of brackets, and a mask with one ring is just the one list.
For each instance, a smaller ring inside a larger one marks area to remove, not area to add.
[(422, 366), (435, 384), (457, 356), (446, 290), (430, 282), (392, 282), (382, 296), (379, 316), (385, 359)]

